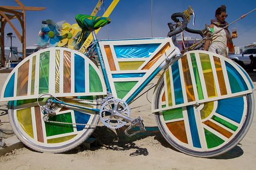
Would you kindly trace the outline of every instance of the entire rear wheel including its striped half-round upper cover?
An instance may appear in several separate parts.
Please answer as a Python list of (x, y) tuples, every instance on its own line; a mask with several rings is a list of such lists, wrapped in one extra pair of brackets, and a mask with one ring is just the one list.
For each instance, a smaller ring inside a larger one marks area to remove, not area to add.
[[(106, 95), (103, 76), (95, 63), (68, 48), (46, 48), (31, 54), (12, 70), (1, 94), (2, 101), (9, 101), (12, 129), (34, 150), (64, 152), (90, 136), (98, 123), (98, 115), (59, 108), (50, 121), (69, 124), (44, 122), (36, 102), (42, 93), (62, 97), (67, 102), (74, 102), (70, 100), (74, 96), (95, 100), (98, 95)], [(41, 105), (44, 103), (45, 100), (41, 101)], [(74, 125), (76, 123), (88, 125)]]

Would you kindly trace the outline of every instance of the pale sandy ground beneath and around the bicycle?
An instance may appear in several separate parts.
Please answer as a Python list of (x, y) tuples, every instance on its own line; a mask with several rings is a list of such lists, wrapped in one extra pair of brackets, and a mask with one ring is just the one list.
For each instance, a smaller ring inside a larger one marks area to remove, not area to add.
[[(8, 74), (0, 74), (0, 87)], [(256, 85), (256, 73), (251, 74)], [(1, 88), (2, 89), (2, 88)], [(150, 92), (148, 98), (151, 98)], [(255, 96), (255, 94), (254, 94)], [(256, 97), (256, 96), (255, 96)], [(95, 134), (105, 145), (83, 145), (62, 153), (38, 153), (21, 148), (0, 157), (1, 169), (255, 169), (256, 167), (256, 122), (254, 117), (250, 130), (231, 151), (215, 158), (196, 158), (172, 148), (157, 131), (154, 116), (146, 94), (131, 105), (132, 117), (142, 116), (145, 126), (154, 131), (127, 138), (120, 131), (103, 126)], [(0, 103), (1, 121), (8, 121), (6, 103)], [(8, 124), (1, 128), (8, 128)]]

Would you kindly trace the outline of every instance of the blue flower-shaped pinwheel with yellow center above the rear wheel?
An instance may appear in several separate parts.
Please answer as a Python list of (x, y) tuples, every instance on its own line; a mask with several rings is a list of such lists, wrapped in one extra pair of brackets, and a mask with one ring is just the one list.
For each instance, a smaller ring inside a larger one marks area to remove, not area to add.
[(37, 40), (39, 46), (44, 46), (49, 42), (50, 47), (55, 47), (62, 39), (60, 29), (53, 20), (47, 19), (45, 22), (42, 22), (42, 29)]

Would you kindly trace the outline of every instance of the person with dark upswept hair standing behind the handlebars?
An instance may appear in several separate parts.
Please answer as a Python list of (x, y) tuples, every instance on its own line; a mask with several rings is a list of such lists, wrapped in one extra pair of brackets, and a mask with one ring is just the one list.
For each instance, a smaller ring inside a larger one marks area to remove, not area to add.
[[(215, 19), (211, 20), (210, 29), (211, 32), (217, 33), (215, 34), (215, 37), (212, 38), (212, 40), (206, 40), (204, 50), (228, 57), (227, 47), (230, 53), (234, 52), (232, 39), (237, 38), (237, 34), (231, 35), (230, 31), (228, 31), (228, 27), (225, 27), (228, 25), (228, 23), (225, 21), (227, 18), (225, 5), (221, 5), (215, 11), (215, 17)], [(224, 27), (225, 29), (223, 29)]]

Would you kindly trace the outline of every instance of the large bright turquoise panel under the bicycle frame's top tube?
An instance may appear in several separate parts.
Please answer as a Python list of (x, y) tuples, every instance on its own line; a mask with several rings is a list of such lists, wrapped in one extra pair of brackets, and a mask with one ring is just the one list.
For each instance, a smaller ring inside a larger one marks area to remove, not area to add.
[(114, 52), (120, 58), (148, 58), (160, 44), (115, 45)]

